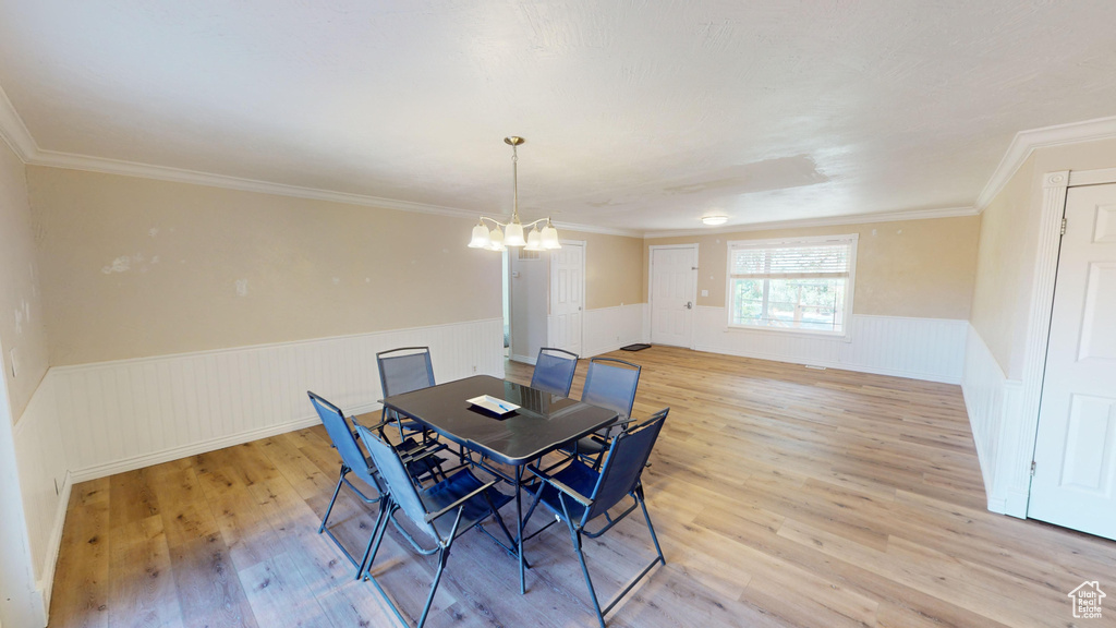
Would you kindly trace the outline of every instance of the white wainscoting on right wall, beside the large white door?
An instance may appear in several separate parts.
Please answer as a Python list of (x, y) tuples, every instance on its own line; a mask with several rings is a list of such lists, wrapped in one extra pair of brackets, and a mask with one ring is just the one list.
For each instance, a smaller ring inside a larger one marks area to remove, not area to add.
[[(1022, 411), (1023, 382), (1004, 377), (1000, 364), (977, 330), (969, 325), (965, 370), (961, 382), (965, 409), (972, 426), (988, 510), (1018, 517), (1027, 516), (1029, 486), (1011, 486), (1011, 469), (1027, 462), (1010, 447)], [(1029, 456), (1029, 454), (1023, 454)]]

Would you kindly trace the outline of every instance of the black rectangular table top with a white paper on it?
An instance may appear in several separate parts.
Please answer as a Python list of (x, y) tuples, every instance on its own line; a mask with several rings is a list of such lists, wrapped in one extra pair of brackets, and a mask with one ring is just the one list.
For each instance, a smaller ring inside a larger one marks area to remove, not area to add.
[[(481, 394), (510, 401), (520, 408), (504, 417), (496, 417), (466, 401)], [(562, 443), (591, 434), (617, 419), (613, 410), (489, 375), (394, 394), (384, 399), (384, 406), (508, 465), (529, 463)]]

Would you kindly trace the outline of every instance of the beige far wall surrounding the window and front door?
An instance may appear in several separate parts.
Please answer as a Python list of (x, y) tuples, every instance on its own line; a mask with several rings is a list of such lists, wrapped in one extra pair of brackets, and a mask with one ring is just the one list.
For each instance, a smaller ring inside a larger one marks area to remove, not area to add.
[[(858, 234), (857, 314), (968, 318), (977, 261), (980, 217), (937, 218), (867, 225), (838, 225), (710, 236), (648, 238), (646, 244), (698, 242), (698, 305), (724, 307), (729, 240)], [(650, 248), (644, 257), (643, 293), (647, 294)]]

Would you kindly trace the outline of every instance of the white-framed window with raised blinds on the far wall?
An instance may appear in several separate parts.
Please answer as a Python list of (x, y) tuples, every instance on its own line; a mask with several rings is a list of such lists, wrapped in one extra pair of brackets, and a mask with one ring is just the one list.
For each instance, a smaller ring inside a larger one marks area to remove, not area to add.
[(729, 242), (729, 326), (845, 335), (857, 236)]

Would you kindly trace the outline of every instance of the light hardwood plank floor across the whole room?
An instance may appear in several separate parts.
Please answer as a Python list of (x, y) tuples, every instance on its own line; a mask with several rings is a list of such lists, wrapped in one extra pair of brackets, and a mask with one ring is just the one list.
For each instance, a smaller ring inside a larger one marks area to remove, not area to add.
[[(610, 626), (1116, 625), (1116, 608), (1072, 619), (1067, 597), (1084, 580), (1116, 594), (1116, 543), (985, 511), (960, 388), (670, 348), (616, 356), (644, 367), (636, 415), (671, 415), (644, 474), (667, 564)], [(317, 427), (76, 486), (50, 625), (392, 626), (316, 533), (338, 464)], [(603, 599), (652, 555), (641, 518), (586, 543)], [(354, 549), (373, 525), (344, 496), (331, 521)], [(429, 626), (594, 625), (557, 526), (528, 544), (526, 596), (487, 536), (454, 548)], [(376, 569), (417, 613), (432, 564), (392, 531)]]

